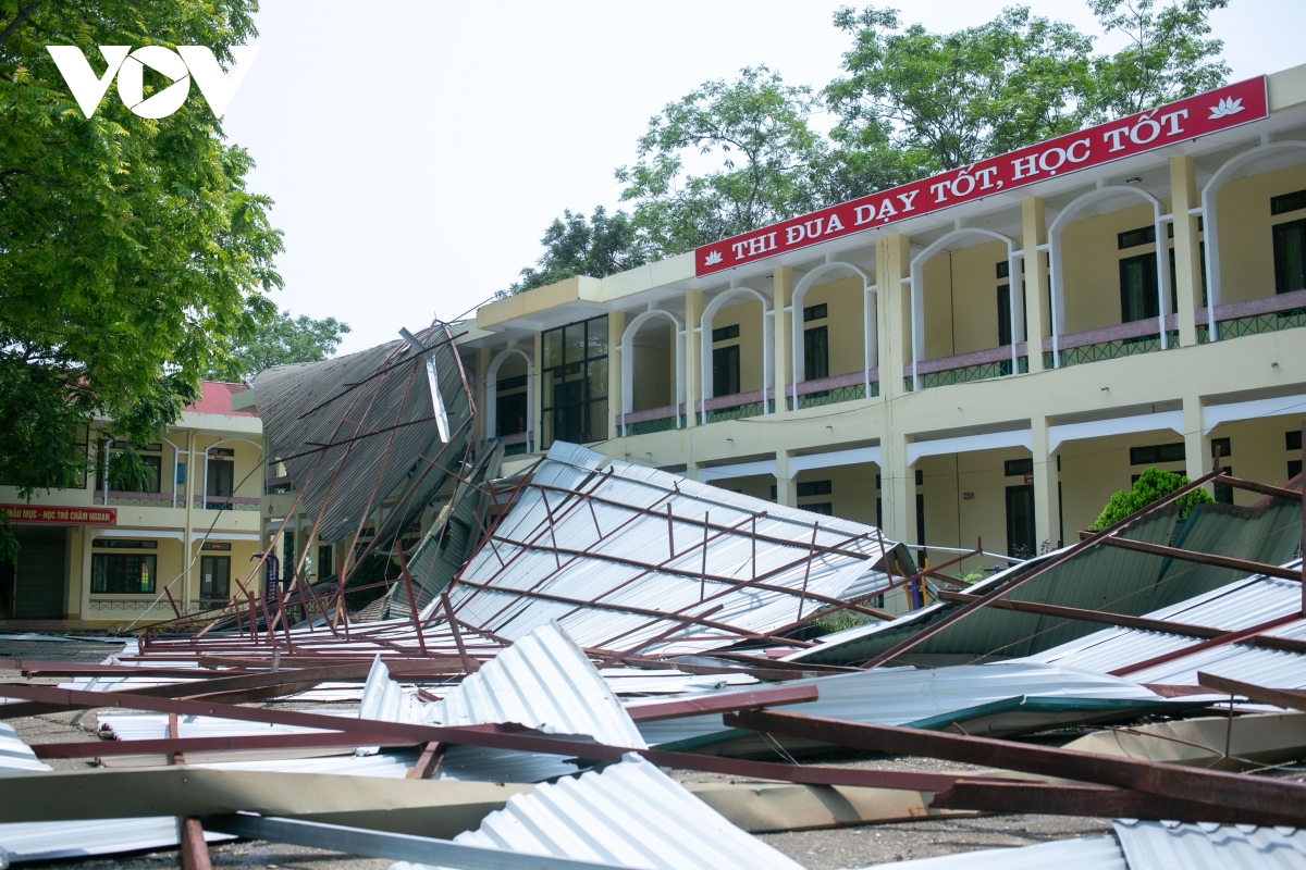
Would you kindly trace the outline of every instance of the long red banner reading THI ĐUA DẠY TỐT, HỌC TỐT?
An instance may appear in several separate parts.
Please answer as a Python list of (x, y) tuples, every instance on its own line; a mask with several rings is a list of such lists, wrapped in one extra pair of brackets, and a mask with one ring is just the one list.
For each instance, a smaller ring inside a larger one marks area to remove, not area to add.
[(744, 263), (917, 218), (1057, 175), (1102, 166), (1199, 136), (1209, 136), (1269, 115), (1266, 77), (1188, 97), (1117, 121), (1030, 145), (960, 170), (872, 193), (754, 232), (703, 245), (695, 275)]

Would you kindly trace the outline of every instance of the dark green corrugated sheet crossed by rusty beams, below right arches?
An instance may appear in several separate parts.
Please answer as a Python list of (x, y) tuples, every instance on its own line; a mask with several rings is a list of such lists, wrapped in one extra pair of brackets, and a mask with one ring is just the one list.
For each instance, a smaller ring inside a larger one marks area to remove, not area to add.
[[(1222, 553), (1280, 565), (1297, 554), (1301, 509), (1272, 501), (1260, 509), (1200, 505), (1186, 520), (1177, 510), (1162, 510), (1132, 527), (1124, 537), (1200, 553)], [(1043, 557), (1045, 558), (1045, 557)], [(973, 587), (983, 592), (1007, 583), (1037, 565), (1032, 560)], [(1175, 562), (1147, 553), (1098, 547), (1076, 556), (1011, 593), (1012, 601), (1141, 616), (1149, 610), (1220, 588), (1238, 579), (1232, 569)], [(916, 634), (955, 604), (935, 604), (891, 623), (867, 625), (821, 638), (820, 646), (789, 656), (795, 661), (848, 664), (866, 661)], [(930, 638), (913, 656), (1023, 657), (1083, 638), (1094, 631), (1077, 622), (1032, 613), (985, 609)]]

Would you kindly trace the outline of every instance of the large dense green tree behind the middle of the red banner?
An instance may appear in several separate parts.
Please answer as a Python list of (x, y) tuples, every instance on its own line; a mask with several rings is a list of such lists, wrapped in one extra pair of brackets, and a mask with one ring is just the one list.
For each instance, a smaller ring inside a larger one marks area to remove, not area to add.
[(1028, 8), (936, 34), (904, 27), (896, 9), (845, 7), (835, 26), (853, 47), (848, 76), (824, 90), (840, 119), (832, 137), (845, 159), (888, 158), (902, 180), (1070, 133), (1087, 116), (1092, 39)]

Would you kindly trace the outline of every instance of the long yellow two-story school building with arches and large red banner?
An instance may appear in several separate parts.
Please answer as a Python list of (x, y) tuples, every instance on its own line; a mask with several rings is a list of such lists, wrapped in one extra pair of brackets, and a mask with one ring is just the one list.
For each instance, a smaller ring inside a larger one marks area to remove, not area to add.
[(1303, 326), (1298, 67), (498, 300), (460, 340), (509, 471), (575, 441), (1027, 554), (1149, 466), (1299, 473)]

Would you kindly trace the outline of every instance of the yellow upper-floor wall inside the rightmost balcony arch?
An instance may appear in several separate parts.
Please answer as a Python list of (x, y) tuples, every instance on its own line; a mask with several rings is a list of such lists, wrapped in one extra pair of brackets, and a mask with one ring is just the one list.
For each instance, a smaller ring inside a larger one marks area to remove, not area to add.
[[(1255, 167), (1252, 167), (1255, 168)], [(1275, 295), (1271, 227), (1306, 211), (1269, 215), (1269, 198), (1306, 188), (1306, 164), (1229, 181), (1216, 194), (1220, 210), (1220, 301)]]

